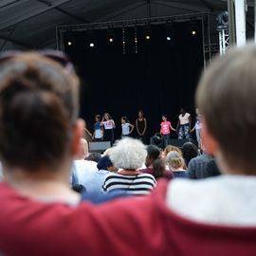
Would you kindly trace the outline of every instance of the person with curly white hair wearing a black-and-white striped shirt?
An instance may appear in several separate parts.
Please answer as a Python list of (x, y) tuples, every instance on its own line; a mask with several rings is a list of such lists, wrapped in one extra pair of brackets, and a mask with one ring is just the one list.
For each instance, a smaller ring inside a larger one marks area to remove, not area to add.
[(146, 156), (146, 147), (141, 141), (130, 137), (119, 140), (112, 149), (110, 159), (114, 166), (122, 171), (109, 174), (102, 186), (103, 190), (105, 192), (121, 190), (134, 195), (150, 193), (156, 185), (155, 177), (137, 171), (144, 164)]

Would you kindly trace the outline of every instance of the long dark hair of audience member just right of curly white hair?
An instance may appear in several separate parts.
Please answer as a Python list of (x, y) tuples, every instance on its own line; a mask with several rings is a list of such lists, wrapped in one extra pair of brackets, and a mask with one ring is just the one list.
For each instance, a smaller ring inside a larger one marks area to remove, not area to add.
[(155, 178), (164, 177), (166, 175), (165, 163), (160, 158), (161, 151), (155, 145), (147, 146), (146, 164), (153, 165), (153, 175)]

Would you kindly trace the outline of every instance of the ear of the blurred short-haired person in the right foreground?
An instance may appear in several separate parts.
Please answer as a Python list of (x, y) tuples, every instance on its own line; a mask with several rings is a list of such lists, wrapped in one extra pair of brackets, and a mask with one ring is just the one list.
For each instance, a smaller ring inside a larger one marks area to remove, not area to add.
[(208, 125), (205, 120), (202, 121), (202, 143), (210, 155), (215, 155), (219, 151), (219, 144), (211, 136)]

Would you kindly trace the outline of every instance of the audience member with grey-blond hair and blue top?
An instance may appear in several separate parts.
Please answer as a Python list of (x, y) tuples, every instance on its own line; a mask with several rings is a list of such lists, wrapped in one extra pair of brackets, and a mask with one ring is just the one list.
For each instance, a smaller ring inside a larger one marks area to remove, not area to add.
[(182, 155), (178, 152), (171, 151), (166, 156), (166, 163), (169, 167), (169, 170), (173, 171), (174, 178), (175, 177), (182, 177), (187, 178), (188, 173), (184, 170), (185, 161)]

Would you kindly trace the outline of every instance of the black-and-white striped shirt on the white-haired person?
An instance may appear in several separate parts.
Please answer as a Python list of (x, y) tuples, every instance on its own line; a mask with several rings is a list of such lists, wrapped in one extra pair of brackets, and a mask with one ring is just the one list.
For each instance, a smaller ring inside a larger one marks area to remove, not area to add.
[(102, 189), (104, 192), (122, 190), (127, 194), (143, 195), (150, 193), (156, 186), (152, 174), (109, 174), (106, 176)]

